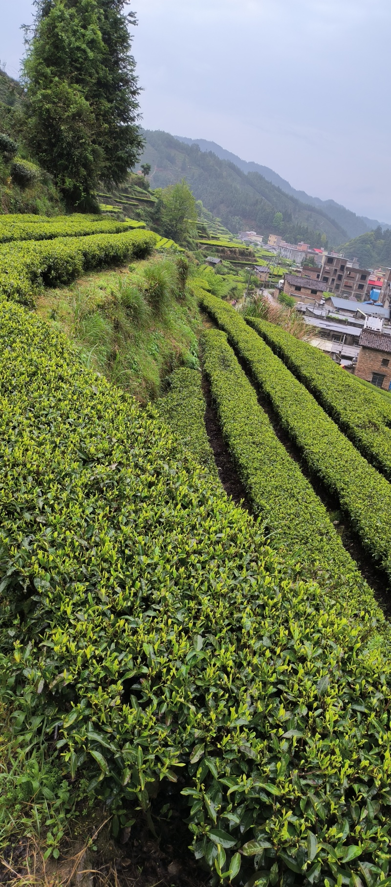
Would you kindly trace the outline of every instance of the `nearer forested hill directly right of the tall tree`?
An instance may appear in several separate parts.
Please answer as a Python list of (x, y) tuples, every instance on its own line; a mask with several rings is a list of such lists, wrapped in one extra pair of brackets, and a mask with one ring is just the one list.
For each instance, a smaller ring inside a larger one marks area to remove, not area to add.
[[(186, 145), (167, 132), (144, 130), (144, 135), (141, 162), (152, 166), (152, 187), (166, 187), (185, 177), (196, 199), (231, 232), (275, 231), (291, 242), (305, 240), (313, 247), (322, 246), (325, 239), (329, 246), (348, 239), (345, 229), (323, 209), (286, 194), (260, 173), (245, 173), (231, 161), (202, 152), (198, 145)], [(282, 219), (276, 214), (282, 214)]]

